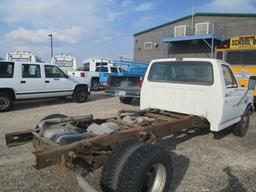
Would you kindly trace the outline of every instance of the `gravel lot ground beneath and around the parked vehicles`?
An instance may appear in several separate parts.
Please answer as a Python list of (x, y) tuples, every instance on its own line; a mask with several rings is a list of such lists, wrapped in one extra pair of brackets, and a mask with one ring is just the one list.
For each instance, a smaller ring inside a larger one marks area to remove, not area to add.
[[(51, 113), (110, 117), (119, 109), (138, 108), (136, 103), (120, 104), (118, 98), (104, 96), (103, 92), (92, 94), (84, 104), (56, 99), (17, 103), (11, 112), (0, 114), (0, 191), (80, 191), (72, 172), (57, 166), (33, 169), (32, 145), (7, 148), (5, 133), (32, 128)], [(208, 131), (195, 131), (162, 141), (173, 157), (172, 191), (256, 192), (256, 114), (251, 116), (246, 137), (229, 132), (222, 135), (213, 139)], [(89, 176), (96, 187), (99, 173)]]

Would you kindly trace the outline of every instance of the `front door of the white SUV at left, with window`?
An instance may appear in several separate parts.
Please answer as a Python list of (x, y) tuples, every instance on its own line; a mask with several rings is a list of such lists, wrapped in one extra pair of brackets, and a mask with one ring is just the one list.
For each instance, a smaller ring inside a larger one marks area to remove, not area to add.
[(51, 95), (69, 95), (73, 92), (74, 82), (57, 66), (45, 65), (45, 90)]

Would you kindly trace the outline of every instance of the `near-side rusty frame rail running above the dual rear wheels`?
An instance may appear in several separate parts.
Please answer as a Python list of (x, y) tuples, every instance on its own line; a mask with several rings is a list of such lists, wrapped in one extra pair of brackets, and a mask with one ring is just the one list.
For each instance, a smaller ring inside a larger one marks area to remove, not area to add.
[[(109, 121), (111, 121), (111, 119), (109, 119)], [(104, 162), (104, 158), (101, 159), (102, 162), (98, 162), (100, 161), (100, 158), (95, 158), (93, 153), (95, 151), (106, 151), (107, 149), (111, 151), (113, 145), (124, 140), (137, 140), (146, 143), (154, 143), (156, 139), (166, 137), (184, 129), (204, 127), (207, 127), (207, 123), (204, 123), (199, 117), (195, 116), (187, 116), (176, 119), (175, 121), (167, 121), (147, 127), (134, 126), (133, 128), (118, 131), (110, 135), (96, 136), (68, 145), (36, 151), (34, 152), (37, 161), (36, 168), (41, 169), (60, 162), (61, 164), (66, 164), (63, 163), (63, 161), (72, 161), (72, 157), (70, 157), (71, 151), (74, 158), (82, 156), (86, 162), (88, 162), (88, 159), (91, 159), (89, 164), (96, 163), (100, 166)]]

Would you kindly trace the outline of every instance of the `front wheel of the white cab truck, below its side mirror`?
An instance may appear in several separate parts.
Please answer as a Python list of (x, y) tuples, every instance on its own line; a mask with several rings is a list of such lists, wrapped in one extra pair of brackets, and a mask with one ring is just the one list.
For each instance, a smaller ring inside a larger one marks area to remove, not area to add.
[(246, 108), (244, 114), (241, 117), (241, 120), (234, 125), (233, 133), (236, 136), (243, 137), (245, 136), (246, 132), (249, 128), (250, 122), (250, 109), (249, 107)]

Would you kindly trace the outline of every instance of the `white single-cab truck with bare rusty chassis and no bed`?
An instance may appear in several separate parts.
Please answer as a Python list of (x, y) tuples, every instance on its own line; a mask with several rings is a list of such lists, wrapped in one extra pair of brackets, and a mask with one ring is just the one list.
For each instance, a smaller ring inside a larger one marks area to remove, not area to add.
[[(215, 59), (153, 60), (145, 74), (139, 111), (116, 117), (53, 114), (34, 129), (6, 134), (8, 146), (32, 142), (36, 168), (60, 164), (86, 175), (103, 166), (103, 191), (168, 192), (172, 159), (159, 139), (190, 129), (244, 136), (256, 77), (238, 87), (230, 66)], [(94, 188), (78, 174), (85, 191)]]

